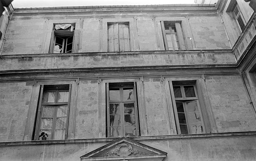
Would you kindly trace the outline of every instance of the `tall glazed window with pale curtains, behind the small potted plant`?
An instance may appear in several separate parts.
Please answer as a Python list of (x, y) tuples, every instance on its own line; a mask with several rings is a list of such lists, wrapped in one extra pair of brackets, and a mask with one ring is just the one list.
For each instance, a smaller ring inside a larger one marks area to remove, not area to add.
[(68, 116), (69, 89), (55, 88), (43, 91), (36, 139), (42, 132), (48, 140), (65, 139)]

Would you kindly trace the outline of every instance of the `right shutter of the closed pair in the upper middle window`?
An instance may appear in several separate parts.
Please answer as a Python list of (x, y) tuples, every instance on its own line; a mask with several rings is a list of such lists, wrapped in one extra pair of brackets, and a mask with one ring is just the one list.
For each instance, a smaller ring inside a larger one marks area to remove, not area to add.
[(130, 51), (129, 27), (119, 24), (119, 51)]

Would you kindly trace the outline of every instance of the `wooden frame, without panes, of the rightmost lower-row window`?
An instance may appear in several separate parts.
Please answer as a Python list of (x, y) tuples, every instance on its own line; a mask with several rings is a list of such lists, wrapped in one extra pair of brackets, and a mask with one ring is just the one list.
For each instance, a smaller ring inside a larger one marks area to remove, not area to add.
[[(191, 83), (190, 81), (189, 82), (186, 82), (184, 83), (172, 83), (172, 91), (173, 91), (173, 88), (174, 87), (180, 87), (181, 89), (181, 93), (182, 93), (182, 98), (175, 98), (175, 96), (173, 95), (173, 98), (174, 98), (174, 104), (173, 104), (173, 109), (174, 109), (174, 117), (175, 117), (175, 122), (176, 122), (176, 130), (177, 130), (177, 134), (181, 134), (181, 130), (180, 130), (180, 123), (179, 123), (179, 118), (178, 118), (178, 112), (177, 112), (177, 107), (176, 107), (176, 102), (180, 102), (183, 104), (183, 109), (184, 109), (184, 113), (185, 113), (185, 118), (186, 118), (186, 124), (187, 124), (187, 130), (188, 130), (188, 134), (192, 134), (191, 133), (191, 129), (190, 129), (190, 126), (189, 126), (189, 122), (188, 122), (188, 117), (187, 117), (187, 105), (186, 103), (188, 102), (193, 102), (193, 101), (196, 101), (197, 102), (197, 105), (198, 105), (198, 110), (199, 110), (199, 114), (200, 114), (200, 119), (201, 119), (201, 123), (202, 123), (202, 127), (203, 127), (203, 133), (206, 133), (207, 130), (206, 130), (206, 126), (205, 126), (205, 122), (203, 120), (203, 115), (204, 113), (202, 112), (201, 110), (201, 106), (200, 106), (200, 101), (199, 101), (199, 97), (198, 97), (198, 94), (197, 94), (197, 88), (196, 88), (196, 85), (195, 83)], [(184, 90), (184, 86), (193, 86), (194, 87), (194, 91), (195, 91), (195, 97), (186, 97), (185, 95), (185, 90)], [(173, 93), (174, 94), (174, 93)]]

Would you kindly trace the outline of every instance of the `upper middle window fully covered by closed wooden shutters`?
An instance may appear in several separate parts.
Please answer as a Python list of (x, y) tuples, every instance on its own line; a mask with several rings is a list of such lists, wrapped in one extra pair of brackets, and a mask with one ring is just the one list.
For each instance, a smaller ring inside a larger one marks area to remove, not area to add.
[(129, 22), (108, 23), (108, 51), (130, 51)]

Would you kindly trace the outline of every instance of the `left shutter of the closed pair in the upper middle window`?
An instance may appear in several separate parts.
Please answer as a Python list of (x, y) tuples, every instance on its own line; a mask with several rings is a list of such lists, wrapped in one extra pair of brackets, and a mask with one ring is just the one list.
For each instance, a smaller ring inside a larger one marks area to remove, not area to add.
[(118, 24), (108, 26), (108, 51), (119, 51)]

